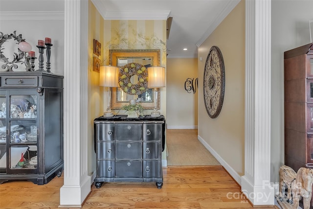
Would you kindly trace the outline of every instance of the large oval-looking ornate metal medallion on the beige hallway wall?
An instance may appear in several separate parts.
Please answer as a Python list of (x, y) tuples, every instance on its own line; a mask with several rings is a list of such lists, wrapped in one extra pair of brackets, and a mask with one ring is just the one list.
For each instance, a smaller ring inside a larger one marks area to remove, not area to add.
[(212, 46), (207, 55), (203, 73), (203, 98), (207, 114), (211, 118), (219, 116), (225, 92), (225, 68), (219, 47)]

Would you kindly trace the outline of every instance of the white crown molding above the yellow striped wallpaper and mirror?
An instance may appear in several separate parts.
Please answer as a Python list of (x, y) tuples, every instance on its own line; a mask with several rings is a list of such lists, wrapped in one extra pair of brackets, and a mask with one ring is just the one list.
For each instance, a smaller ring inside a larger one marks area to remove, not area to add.
[(171, 11), (107, 11), (105, 2), (91, 0), (104, 20), (167, 20)]

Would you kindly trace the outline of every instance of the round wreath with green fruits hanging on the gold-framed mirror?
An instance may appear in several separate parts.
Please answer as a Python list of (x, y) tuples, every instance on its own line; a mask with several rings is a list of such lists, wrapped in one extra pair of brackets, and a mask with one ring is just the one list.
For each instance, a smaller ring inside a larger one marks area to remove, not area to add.
[[(138, 76), (138, 82), (133, 84), (131, 77)], [(128, 94), (139, 95), (148, 89), (148, 70), (139, 63), (129, 63), (119, 67), (118, 83), (121, 89)]]

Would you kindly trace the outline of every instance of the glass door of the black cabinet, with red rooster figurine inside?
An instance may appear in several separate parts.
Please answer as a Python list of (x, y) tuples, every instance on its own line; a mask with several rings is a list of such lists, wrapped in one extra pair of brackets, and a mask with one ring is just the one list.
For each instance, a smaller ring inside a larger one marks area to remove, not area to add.
[(33, 172), (37, 169), (37, 95), (12, 93), (9, 104), (7, 173)]

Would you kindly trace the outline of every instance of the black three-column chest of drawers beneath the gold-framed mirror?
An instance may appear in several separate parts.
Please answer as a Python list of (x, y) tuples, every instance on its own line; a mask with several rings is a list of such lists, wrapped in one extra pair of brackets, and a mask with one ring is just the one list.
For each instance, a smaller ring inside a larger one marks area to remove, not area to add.
[(96, 178), (103, 182), (156, 182), (163, 185), (165, 118), (126, 115), (94, 119)]

